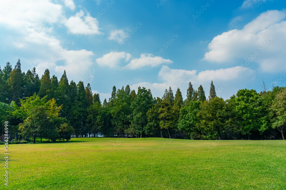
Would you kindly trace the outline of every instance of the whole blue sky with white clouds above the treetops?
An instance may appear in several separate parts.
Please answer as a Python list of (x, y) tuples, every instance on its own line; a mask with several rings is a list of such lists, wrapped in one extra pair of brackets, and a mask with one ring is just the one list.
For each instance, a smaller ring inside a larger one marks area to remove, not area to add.
[(48, 68), (59, 79), (150, 88), (154, 97), (188, 82), (225, 99), (237, 90), (286, 84), (286, 4), (282, 0), (4, 0), (1, 68)]

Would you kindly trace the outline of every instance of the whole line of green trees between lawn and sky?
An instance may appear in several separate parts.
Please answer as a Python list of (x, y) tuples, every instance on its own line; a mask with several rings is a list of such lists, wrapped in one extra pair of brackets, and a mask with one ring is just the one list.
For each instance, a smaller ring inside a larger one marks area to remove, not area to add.
[[(90, 83), (60, 80), (48, 69), (39, 77), (35, 68), (21, 71), (7, 62), (0, 67), (0, 121), (10, 121), (13, 134), (55, 140), (71, 137), (161, 137), (184, 139), (283, 139), (286, 123), (286, 89), (241, 89), (224, 100), (210, 83), (208, 98), (200, 85), (189, 82), (186, 98), (177, 88), (163, 97), (150, 89), (112, 88), (100, 101)], [(278, 133), (279, 132), (279, 133)], [(3, 134), (3, 130), (2, 130)], [(280, 135), (279, 135), (280, 134)]]

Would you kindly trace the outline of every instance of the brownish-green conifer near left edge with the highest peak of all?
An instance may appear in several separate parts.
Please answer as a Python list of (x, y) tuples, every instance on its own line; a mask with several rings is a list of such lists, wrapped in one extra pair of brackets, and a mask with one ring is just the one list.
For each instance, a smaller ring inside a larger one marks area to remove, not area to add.
[(23, 95), (23, 76), (21, 72), (21, 63), (20, 59), (18, 59), (17, 64), (15, 65), (15, 68), (10, 73), (9, 79), (7, 79), (7, 83), (9, 86), (10, 91), (10, 101), (15, 101), (16, 103), (19, 103), (19, 98), (22, 98)]

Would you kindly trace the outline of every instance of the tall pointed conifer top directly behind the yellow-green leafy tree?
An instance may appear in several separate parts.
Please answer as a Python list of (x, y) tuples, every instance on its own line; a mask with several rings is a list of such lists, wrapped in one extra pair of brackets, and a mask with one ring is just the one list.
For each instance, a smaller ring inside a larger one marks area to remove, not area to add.
[(47, 95), (47, 99), (51, 99), (51, 91), (53, 87), (51, 83), (50, 71), (48, 69), (46, 69), (44, 74), (42, 75), (40, 83), (41, 86), (39, 90), (39, 96), (43, 98)]

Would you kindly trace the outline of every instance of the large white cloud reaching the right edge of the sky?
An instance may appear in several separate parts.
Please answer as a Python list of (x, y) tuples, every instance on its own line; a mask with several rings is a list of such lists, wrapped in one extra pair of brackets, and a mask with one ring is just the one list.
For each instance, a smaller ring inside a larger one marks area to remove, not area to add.
[(208, 44), (204, 60), (230, 63), (243, 60), (242, 66), (259, 64), (265, 72), (285, 69), (286, 21), (282, 11), (267, 11), (246, 24), (216, 36)]

